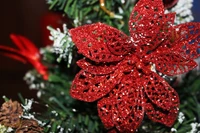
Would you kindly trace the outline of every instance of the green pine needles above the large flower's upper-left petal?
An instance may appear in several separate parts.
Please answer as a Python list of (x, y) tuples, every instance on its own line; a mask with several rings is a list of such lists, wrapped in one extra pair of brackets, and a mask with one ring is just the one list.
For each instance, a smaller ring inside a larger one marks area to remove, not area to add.
[(109, 16), (100, 7), (99, 0), (51, 0), (49, 9), (62, 11), (74, 21), (74, 26), (103, 22), (128, 33), (128, 20), (134, 3), (121, 0), (105, 0), (105, 7), (114, 12)]

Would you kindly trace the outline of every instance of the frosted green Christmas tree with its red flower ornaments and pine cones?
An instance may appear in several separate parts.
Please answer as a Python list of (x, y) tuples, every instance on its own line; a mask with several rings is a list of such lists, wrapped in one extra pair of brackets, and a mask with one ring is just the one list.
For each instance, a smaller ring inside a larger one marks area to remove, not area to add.
[[(67, 21), (37, 48), (11, 34), (38, 101), (4, 96), (0, 132), (199, 133), (200, 23), (192, 0), (48, 0)], [(34, 110), (39, 107), (40, 110)]]

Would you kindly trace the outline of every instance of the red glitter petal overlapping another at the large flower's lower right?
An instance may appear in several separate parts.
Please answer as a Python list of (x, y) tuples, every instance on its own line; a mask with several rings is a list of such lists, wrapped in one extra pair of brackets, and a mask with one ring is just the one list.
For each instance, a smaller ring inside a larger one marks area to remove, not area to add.
[(152, 72), (146, 76), (144, 84), (147, 97), (156, 106), (168, 111), (178, 108), (179, 96), (163, 78)]

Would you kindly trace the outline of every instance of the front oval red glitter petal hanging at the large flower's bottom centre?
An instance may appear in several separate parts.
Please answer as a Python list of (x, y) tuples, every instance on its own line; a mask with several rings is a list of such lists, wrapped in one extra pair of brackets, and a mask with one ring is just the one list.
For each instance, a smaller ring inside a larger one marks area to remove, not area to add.
[(120, 132), (134, 132), (144, 117), (143, 92), (133, 82), (136, 81), (126, 77), (114, 95), (116, 102), (112, 108), (113, 121)]

